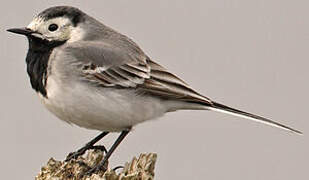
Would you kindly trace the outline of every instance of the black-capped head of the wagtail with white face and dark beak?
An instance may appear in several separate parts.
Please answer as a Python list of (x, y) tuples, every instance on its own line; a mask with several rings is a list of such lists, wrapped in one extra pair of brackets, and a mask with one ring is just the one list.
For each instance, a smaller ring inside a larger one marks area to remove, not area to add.
[(83, 39), (86, 30), (81, 24), (86, 18), (87, 15), (77, 8), (56, 6), (39, 13), (27, 27), (8, 31), (55, 46)]

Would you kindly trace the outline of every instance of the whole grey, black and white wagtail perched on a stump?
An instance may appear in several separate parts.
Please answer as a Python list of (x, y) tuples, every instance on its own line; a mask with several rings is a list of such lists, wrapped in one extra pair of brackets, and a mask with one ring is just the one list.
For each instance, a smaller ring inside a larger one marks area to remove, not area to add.
[(8, 31), (29, 40), (27, 72), (45, 107), (70, 124), (102, 131), (68, 160), (93, 148), (109, 132), (121, 132), (89, 174), (103, 167), (134, 125), (176, 110), (219, 111), (301, 134), (197, 93), (131, 39), (77, 8), (48, 8), (26, 28)]

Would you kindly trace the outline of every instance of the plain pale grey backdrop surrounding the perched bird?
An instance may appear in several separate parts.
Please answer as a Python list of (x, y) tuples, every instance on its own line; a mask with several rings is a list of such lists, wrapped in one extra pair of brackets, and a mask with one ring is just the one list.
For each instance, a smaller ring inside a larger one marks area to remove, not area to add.
[[(98, 132), (71, 127), (40, 104), (25, 70), (27, 25), (63, 1), (2, 2), (1, 179), (33, 179), (50, 157), (63, 159)], [(305, 0), (65, 1), (132, 37), (202, 94), (302, 130), (297, 136), (206, 111), (147, 122), (111, 158), (159, 154), (156, 179), (308, 179), (309, 2)], [(116, 135), (101, 143), (110, 145)]]

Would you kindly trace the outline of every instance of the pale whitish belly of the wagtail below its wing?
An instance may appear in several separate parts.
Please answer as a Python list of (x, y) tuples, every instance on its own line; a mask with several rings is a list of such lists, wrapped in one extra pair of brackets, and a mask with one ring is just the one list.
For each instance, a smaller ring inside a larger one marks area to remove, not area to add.
[(121, 131), (140, 122), (162, 116), (167, 107), (161, 100), (136, 95), (134, 91), (66, 84), (50, 76), (42, 102), (58, 118), (100, 131)]

